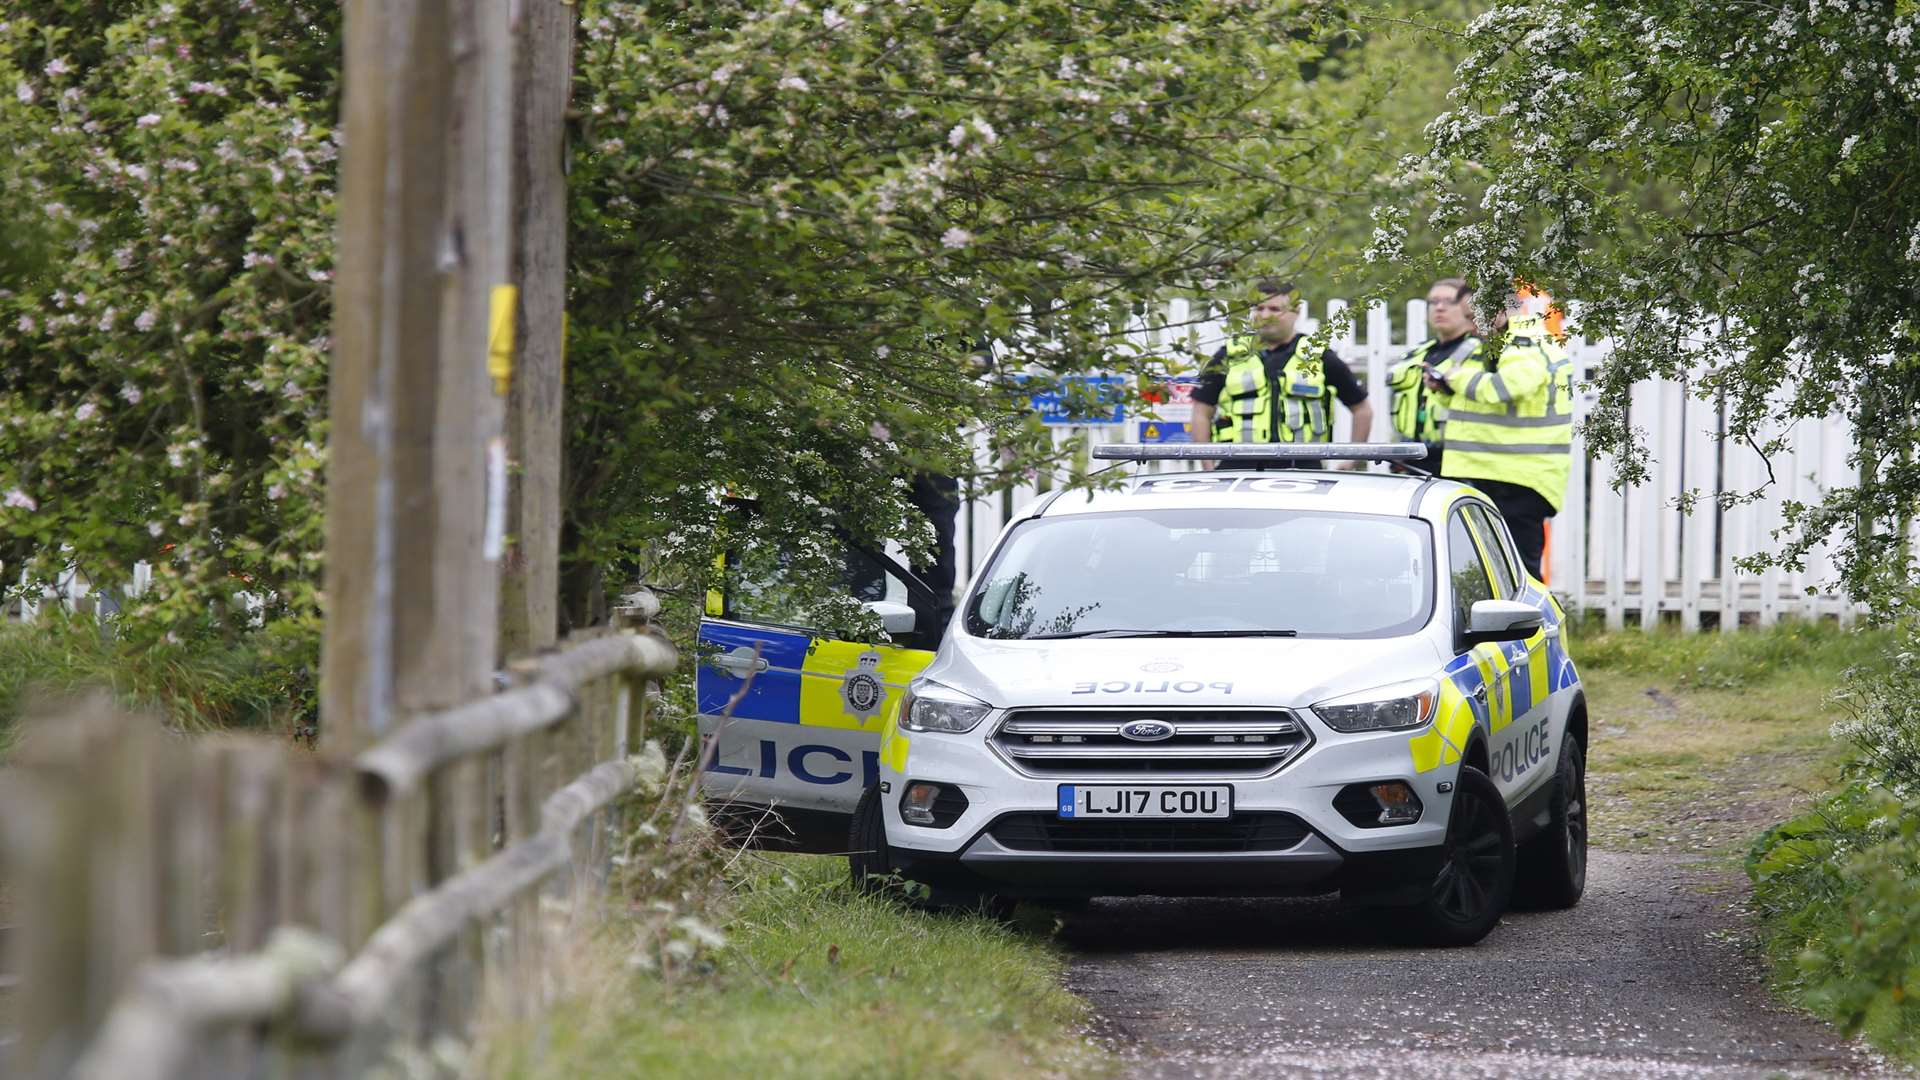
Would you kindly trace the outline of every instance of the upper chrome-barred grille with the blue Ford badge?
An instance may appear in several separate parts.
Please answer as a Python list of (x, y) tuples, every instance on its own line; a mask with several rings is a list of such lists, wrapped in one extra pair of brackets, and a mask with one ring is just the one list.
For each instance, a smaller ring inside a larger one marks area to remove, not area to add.
[[(1162, 721), (1173, 736), (1135, 742), (1119, 734), (1133, 721)], [(1261, 776), (1311, 736), (1286, 709), (1023, 709), (1000, 721), (993, 746), (1029, 776), (1092, 774)]]

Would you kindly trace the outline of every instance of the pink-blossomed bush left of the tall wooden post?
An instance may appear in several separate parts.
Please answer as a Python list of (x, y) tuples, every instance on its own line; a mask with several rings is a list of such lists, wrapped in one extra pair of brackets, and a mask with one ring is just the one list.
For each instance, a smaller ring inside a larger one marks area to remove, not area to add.
[(317, 611), (334, 4), (0, 17), (0, 559), (159, 638)]

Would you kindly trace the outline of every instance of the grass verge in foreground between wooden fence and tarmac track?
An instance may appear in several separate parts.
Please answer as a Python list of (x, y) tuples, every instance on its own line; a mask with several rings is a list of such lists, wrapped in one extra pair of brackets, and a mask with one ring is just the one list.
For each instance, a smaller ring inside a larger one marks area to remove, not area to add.
[(1062, 988), (1050, 920), (910, 911), (854, 894), (845, 861), (829, 857), (751, 855), (728, 882), (710, 915), (722, 947), (708, 936), (685, 963), (632, 967), (649, 955), (653, 922), (614, 920), (595, 940), (603, 976), (570, 978), (588, 990), (551, 1011), (538, 1059), (534, 1040), (511, 1040), (488, 1072), (705, 1080), (1106, 1068), (1079, 1034), (1087, 1007)]

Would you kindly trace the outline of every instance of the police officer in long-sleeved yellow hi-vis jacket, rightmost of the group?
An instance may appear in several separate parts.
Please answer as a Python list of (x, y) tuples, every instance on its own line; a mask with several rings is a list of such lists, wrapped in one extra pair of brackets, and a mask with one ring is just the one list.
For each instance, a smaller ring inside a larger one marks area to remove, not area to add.
[[(1461, 304), (1473, 296), (1461, 294)], [(1572, 363), (1519, 298), (1494, 321), (1498, 356), (1478, 350), (1428, 375), (1446, 402), (1444, 477), (1486, 492), (1507, 519), (1528, 573), (1540, 577), (1546, 523), (1567, 500), (1572, 452)]]

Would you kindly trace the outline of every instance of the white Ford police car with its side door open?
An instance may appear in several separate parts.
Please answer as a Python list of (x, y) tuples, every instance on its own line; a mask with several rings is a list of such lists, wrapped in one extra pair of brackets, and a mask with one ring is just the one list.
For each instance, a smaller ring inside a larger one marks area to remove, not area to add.
[(1586, 698), (1488, 500), (1284, 469), (1417, 446), (1096, 454), (1219, 469), (1027, 509), (931, 655), (714, 623), (707, 790), (847, 821), (856, 882), (937, 897), (1338, 892), (1427, 944), (1578, 901)]

